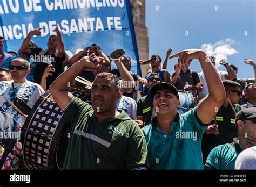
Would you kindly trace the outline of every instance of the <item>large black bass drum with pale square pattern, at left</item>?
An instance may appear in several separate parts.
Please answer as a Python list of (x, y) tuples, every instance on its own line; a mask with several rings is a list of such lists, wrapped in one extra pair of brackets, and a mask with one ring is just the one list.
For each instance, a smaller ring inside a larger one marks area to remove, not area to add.
[[(72, 88), (73, 96), (90, 101), (90, 90)], [(89, 102), (90, 103), (90, 102)], [(22, 127), (21, 160), (27, 169), (62, 169), (71, 124), (49, 90), (37, 100)]]

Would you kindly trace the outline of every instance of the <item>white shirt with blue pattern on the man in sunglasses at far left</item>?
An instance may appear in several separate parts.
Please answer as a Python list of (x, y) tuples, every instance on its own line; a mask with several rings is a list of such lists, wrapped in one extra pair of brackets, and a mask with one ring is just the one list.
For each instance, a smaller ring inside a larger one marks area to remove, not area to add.
[[(14, 103), (14, 92), (12, 89), (11, 81), (0, 82), (0, 106), (3, 107), (5, 113), (8, 113), (11, 117), (16, 119), (22, 125), (24, 124), (25, 118), (19, 114), (2, 96), (8, 98)], [(33, 107), (37, 99), (44, 93), (41, 85), (30, 81), (23, 83), (14, 83), (14, 89), (16, 96), (22, 98), (29, 107)]]

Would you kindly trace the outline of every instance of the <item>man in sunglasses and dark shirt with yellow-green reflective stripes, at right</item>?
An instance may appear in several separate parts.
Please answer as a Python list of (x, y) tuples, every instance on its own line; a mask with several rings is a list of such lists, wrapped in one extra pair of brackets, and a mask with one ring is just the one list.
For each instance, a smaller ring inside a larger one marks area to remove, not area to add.
[[(234, 110), (235, 112), (241, 110), (241, 106), (237, 104), (241, 98), (240, 84), (234, 81), (225, 80), (223, 81), (223, 85), (226, 90), (225, 102), (218, 110), (211, 125), (207, 127), (202, 140), (204, 163), (208, 154), (214, 147), (224, 143), (231, 143), (233, 138), (237, 136)], [(232, 103), (234, 110), (232, 109), (230, 102)]]

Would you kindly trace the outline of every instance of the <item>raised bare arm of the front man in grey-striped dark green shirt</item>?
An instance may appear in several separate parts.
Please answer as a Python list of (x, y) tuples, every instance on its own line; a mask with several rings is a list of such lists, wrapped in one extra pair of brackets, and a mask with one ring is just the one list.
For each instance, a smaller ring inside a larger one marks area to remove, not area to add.
[(60, 109), (64, 109), (73, 98), (72, 93), (69, 92), (71, 83), (80, 73), (82, 73), (84, 69), (99, 68), (100, 65), (96, 65), (96, 62), (97, 56), (95, 56), (94, 53), (90, 56), (85, 56), (73, 64), (73, 66), (71, 66), (69, 69), (64, 71), (64, 73), (58, 76), (58, 78), (56, 78), (56, 80), (50, 85), (49, 90), (51, 95), (55, 99)]

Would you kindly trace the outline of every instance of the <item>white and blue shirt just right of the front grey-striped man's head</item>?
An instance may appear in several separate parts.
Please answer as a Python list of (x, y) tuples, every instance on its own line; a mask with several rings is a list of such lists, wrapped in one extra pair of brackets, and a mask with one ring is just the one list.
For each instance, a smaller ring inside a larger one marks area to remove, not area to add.
[(137, 119), (136, 110), (137, 103), (131, 97), (121, 96), (118, 102), (116, 103), (117, 109), (122, 109), (125, 113), (130, 116), (132, 119)]

